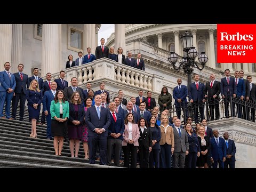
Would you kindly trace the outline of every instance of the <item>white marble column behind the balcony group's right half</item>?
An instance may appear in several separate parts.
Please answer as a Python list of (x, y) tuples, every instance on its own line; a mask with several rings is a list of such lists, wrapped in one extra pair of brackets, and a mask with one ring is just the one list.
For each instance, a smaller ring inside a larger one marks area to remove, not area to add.
[(126, 55), (125, 49), (125, 24), (115, 24), (115, 51), (118, 47), (123, 48), (123, 54)]

